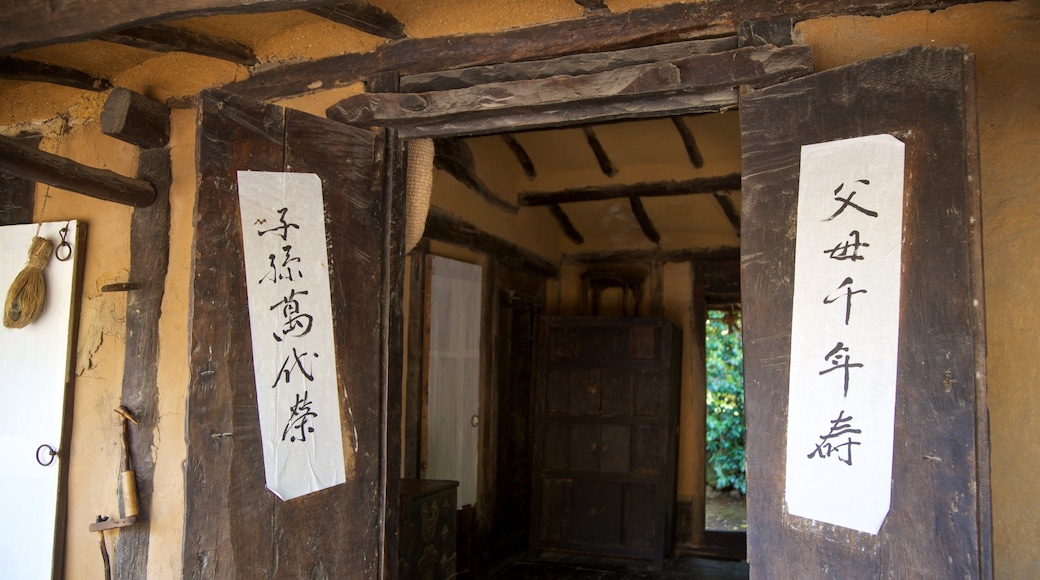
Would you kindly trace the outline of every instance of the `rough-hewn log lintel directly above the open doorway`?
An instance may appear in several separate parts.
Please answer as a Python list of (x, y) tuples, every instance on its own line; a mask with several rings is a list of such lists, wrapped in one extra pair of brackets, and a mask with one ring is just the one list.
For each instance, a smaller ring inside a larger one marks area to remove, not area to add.
[(503, 112), (638, 101), (664, 94), (768, 85), (811, 72), (812, 53), (807, 46), (747, 47), (590, 75), (414, 94), (365, 93), (329, 107), (327, 114), (348, 125), (402, 127), (463, 115), (472, 120)]

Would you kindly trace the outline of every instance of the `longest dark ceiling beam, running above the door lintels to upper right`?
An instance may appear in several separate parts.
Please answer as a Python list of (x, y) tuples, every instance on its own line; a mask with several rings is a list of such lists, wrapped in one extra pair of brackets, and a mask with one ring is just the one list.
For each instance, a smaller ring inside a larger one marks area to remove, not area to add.
[[(84, 1), (84, 0), (80, 0)], [(100, 0), (98, 0), (100, 1)], [(124, 2), (130, 0), (123, 0)], [(199, 0), (197, 0), (199, 1)], [(254, 99), (276, 99), (353, 84), (376, 71), (401, 75), (520, 62), (566, 55), (615, 51), (691, 37), (735, 34), (746, 20), (825, 16), (884, 16), (907, 9), (941, 9), (973, 0), (704, 0), (639, 8), (466, 36), (405, 38), (369, 53), (342, 54), (319, 60), (272, 67), (226, 89)], [(36, 0), (34, 3), (43, 3)], [(0, 29), (2, 31), (2, 29)]]

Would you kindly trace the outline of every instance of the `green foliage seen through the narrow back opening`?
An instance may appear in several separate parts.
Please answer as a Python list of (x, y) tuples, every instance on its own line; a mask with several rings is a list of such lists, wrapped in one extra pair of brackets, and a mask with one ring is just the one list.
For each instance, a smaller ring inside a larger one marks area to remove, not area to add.
[(706, 331), (708, 482), (746, 494), (740, 313), (709, 311)]

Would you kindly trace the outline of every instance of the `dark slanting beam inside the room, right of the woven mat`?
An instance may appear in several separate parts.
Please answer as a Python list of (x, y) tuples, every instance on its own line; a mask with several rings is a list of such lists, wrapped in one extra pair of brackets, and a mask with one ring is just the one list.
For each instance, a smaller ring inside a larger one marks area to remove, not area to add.
[(546, 278), (560, 278), (560, 267), (552, 262), (506, 239), (489, 234), (436, 206), (431, 207), (426, 215), (425, 237), (487, 254), (509, 268), (530, 271)]

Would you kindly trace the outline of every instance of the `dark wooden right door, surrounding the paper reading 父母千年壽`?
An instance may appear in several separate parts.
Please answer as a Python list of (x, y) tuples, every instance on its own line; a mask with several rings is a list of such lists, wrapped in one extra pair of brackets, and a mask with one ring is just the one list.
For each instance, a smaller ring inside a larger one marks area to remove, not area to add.
[[(916, 48), (753, 91), (740, 123), (752, 575), (990, 577), (971, 56)], [(800, 149), (875, 134), (906, 148), (891, 501), (877, 535), (784, 503)]]

